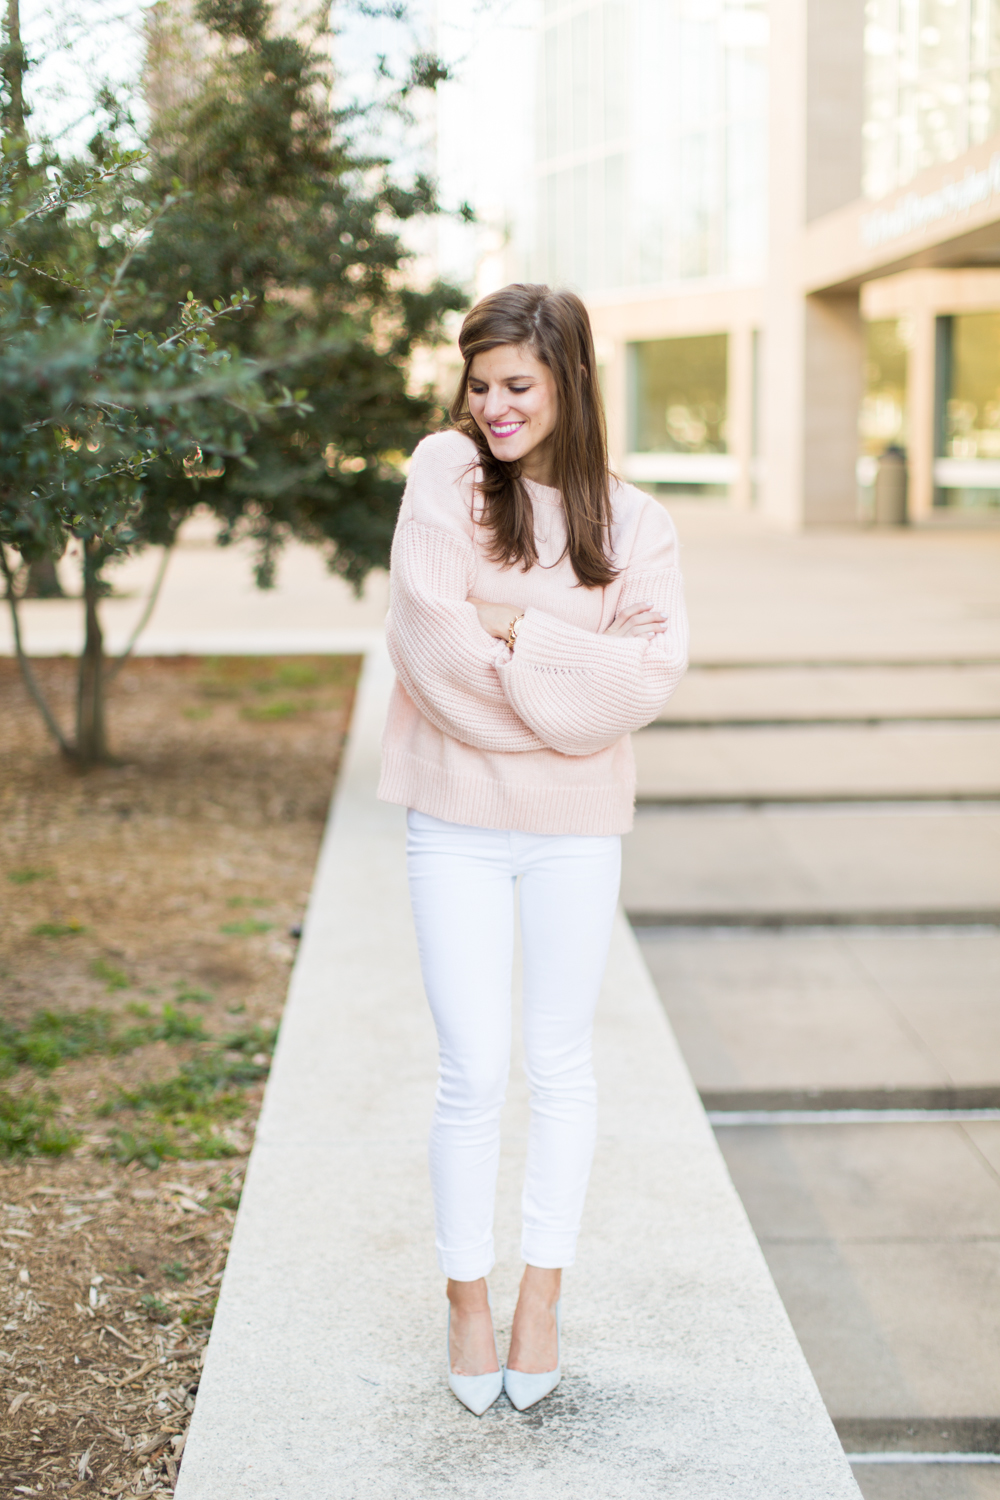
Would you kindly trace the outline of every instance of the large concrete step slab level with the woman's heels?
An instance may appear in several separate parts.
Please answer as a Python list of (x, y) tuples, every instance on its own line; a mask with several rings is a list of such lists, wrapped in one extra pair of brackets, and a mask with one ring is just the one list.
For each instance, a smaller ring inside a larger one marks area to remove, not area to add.
[(1000, 1124), (718, 1138), (834, 1418), (1000, 1418)]

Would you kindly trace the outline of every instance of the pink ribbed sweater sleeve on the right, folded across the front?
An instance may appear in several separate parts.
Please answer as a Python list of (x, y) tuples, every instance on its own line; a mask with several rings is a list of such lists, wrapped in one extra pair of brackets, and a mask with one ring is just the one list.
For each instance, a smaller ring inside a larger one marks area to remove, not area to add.
[(684, 676), (688, 621), (673, 522), (657, 507), (643, 520), (622, 574), (618, 610), (649, 603), (667, 616), (651, 638), (580, 630), (529, 609), (499, 678), (517, 717), (562, 754), (592, 754), (651, 723)]

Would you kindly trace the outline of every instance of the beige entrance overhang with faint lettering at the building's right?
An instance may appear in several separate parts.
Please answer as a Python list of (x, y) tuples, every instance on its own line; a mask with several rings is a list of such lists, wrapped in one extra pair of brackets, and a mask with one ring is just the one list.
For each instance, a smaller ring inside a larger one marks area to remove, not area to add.
[(816, 219), (799, 264), (805, 292), (849, 291), (918, 267), (1000, 266), (1000, 135), (877, 202), (862, 198)]

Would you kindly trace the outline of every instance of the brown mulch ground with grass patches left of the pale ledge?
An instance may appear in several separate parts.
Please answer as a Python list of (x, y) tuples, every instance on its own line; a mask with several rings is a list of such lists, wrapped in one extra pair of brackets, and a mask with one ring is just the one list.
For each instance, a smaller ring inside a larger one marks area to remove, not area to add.
[(4, 1496), (172, 1492), (357, 666), (139, 658), (81, 772), (0, 660)]

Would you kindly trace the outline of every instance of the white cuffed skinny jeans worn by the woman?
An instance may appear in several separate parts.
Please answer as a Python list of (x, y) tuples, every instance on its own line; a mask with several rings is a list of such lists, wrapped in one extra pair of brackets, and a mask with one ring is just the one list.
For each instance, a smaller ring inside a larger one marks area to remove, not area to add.
[(493, 1266), (520, 876), (531, 1090), (522, 1256), (532, 1266), (571, 1266), (594, 1155), (591, 1038), (621, 838), (466, 828), (412, 810), (408, 830), (420, 964), (441, 1048), (430, 1130), (438, 1263), (456, 1281)]

